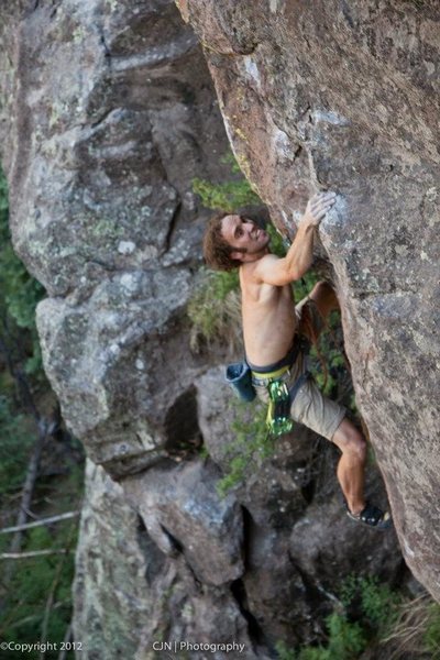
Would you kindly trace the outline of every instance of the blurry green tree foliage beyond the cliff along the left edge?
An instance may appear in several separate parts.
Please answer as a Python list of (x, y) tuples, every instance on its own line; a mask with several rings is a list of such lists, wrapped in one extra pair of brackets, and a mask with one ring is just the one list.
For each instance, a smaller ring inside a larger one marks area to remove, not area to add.
[[(14, 509), (20, 505), (20, 491), (38, 432), (36, 420), (42, 417), (37, 410), (40, 402), (44, 399), (47, 406), (48, 400), (54, 400), (44, 377), (35, 326), (35, 308), (43, 295), (44, 288), (26, 272), (13, 250), (8, 186), (0, 170), (0, 514), (7, 526), (16, 519)], [(72, 508), (81, 490), (82, 466), (72, 469), (61, 481), (62, 485), (52, 485), (51, 480), (38, 475), (32, 502), (34, 513), (44, 517)], [(45, 501), (52, 490), (54, 510), (52, 498)], [(8, 582), (0, 584), (2, 639), (35, 642), (43, 636), (53, 642), (63, 640), (72, 617), (76, 526), (77, 521), (68, 527), (62, 522), (54, 529), (29, 530), (20, 548), (22, 552), (68, 549), (66, 553), (1, 560), (2, 568), (13, 566)], [(0, 552), (8, 552), (10, 543), (11, 535), (1, 535)], [(4, 575), (6, 569), (3, 581)], [(47, 610), (51, 594), (54, 602)], [(16, 656), (12, 650), (2, 653), (4, 660)], [(58, 653), (47, 651), (45, 658), (56, 660)]]

